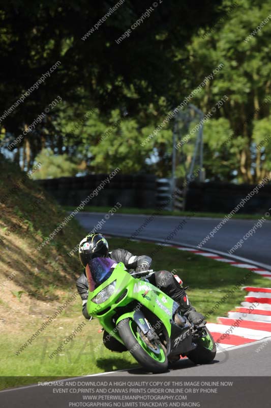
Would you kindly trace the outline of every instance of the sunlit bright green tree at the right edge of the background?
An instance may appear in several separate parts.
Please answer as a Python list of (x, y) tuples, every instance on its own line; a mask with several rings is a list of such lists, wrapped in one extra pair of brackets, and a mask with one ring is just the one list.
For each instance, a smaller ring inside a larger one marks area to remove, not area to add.
[[(223, 6), (226, 5), (230, 5), (230, 2), (224, 0)], [(243, 0), (210, 34), (205, 36), (205, 32), (200, 30), (199, 36), (195, 36), (188, 46), (190, 67), (198, 72), (195, 77), (192, 75), (190, 87), (196, 86), (203, 71), (211, 72), (218, 62), (224, 63), (221, 72), (195, 98), (205, 113), (216, 106), (223, 95), (229, 98), (217, 109), (215, 119), (226, 118), (230, 127), (223, 127), (224, 135), (217, 129), (217, 137), (213, 138), (217, 139), (216, 147), (213, 142), (210, 145), (209, 135), (204, 139), (208, 151), (206, 170), (209, 179), (219, 175), (219, 179), (223, 180), (228, 169), (231, 171), (228, 180), (236, 173), (238, 182), (257, 183), (270, 168), (269, 155), (262, 155), (262, 151), (256, 152), (253, 147), (269, 132), (266, 123), (271, 101), (271, 25), (266, 23), (257, 30), (268, 15), (268, 2)], [(250, 36), (254, 30), (255, 34)], [(209, 119), (209, 122), (214, 122), (214, 119)], [(214, 129), (214, 126), (210, 126)], [(208, 134), (209, 128), (207, 125), (205, 127)], [(267, 133), (264, 135), (264, 132)], [(221, 143), (222, 140), (226, 143)], [(267, 145), (264, 148), (267, 149)], [(222, 164), (221, 171), (217, 171), (219, 162)]]

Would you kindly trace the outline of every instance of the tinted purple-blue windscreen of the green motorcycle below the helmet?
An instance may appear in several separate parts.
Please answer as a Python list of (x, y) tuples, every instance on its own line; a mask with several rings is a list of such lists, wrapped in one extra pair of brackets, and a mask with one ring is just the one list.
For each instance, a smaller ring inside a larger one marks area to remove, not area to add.
[(113, 272), (115, 261), (110, 258), (94, 258), (85, 267), (88, 289), (93, 292), (106, 281)]

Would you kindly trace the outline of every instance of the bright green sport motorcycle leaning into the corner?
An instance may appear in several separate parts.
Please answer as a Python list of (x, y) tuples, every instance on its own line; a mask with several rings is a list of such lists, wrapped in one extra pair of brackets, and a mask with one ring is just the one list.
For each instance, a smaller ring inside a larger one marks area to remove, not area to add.
[(87, 312), (126, 346), (148, 372), (165, 372), (179, 355), (195, 364), (212, 362), (216, 345), (204, 324), (178, 313), (179, 304), (148, 282), (153, 271), (129, 273), (122, 262), (95, 258), (86, 266)]

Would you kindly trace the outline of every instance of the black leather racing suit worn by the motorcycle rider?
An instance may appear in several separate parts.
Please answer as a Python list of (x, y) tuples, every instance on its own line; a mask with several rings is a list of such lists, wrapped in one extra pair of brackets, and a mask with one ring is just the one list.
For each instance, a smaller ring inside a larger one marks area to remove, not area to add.
[[(108, 253), (108, 257), (117, 263), (123, 262), (128, 270), (136, 269), (141, 264), (146, 263), (150, 266), (150, 264), (152, 263), (152, 259), (150, 257), (146, 255), (135, 256), (126, 249), (114, 249), (113, 251)], [(191, 307), (191, 304), (188, 300), (185, 290), (176, 281), (172, 272), (164, 270), (155, 272), (151, 276), (149, 281), (153, 285), (156, 285), (158, 288), (160, 288), (163, 292), (165, 292), (176, 302), (178, 302), (180, 304), (180, 311), (182, 311), (183, 313), (191, 312), (191, 314), (195, 312), (194, 308)], [(88, 315), (86, 310), (86, 303), (88, 297), (88, 282), (85, 273), (82, 273), (81, 276), (77, 279), (76, 287), (82, 299), (83, 306), (82, 313), (86, 319), (90, 319), (91, 316)], [(117, 340), (111, 337), (106, 331), (104, 331), (103, 342), (105, 347), (107, 347), (109, 350), (119, 352), (126, 350), (125, 346), (123, 346), (121, 343), (119, 343)]]

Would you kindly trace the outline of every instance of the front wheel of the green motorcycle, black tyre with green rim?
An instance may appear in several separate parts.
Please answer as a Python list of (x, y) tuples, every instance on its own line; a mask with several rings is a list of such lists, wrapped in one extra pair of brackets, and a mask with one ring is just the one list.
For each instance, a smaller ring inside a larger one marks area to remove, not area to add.
[(146, 371), (153, 373), (167, 371), (167, 356), (159, 341), (150, 343), (132, 319), (122, 320), (118, 323), (117, 329), (128, 351)]

